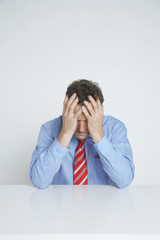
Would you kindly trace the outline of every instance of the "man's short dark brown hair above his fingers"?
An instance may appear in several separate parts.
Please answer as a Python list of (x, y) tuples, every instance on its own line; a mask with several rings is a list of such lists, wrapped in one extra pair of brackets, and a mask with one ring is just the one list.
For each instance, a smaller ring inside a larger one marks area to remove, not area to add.
[(99, 84), (91, 80), (79, 79), (72, 82), (68, 86), (66, 94), (70, 98), (73, 93), (77, 93), (77, 96), (79, 98), (78, 105), (80, 106), (84, 105), (83, 100), (89, 102), (88, 95), (91, 95), (95, 100), (99, 98), (101, 104), (104, 101), (102, 90), (99, 87)]

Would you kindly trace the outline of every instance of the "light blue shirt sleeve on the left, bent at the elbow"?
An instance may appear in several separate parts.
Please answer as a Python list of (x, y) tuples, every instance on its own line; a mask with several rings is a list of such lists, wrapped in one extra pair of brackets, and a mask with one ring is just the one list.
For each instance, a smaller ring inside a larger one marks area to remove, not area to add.
[(37, 188), (47, 188), (60, 169), (68, 151), (69, 149), (62, 146), (57, 138), (53, 139), (42, 125), (29, 167), (31, 182)]

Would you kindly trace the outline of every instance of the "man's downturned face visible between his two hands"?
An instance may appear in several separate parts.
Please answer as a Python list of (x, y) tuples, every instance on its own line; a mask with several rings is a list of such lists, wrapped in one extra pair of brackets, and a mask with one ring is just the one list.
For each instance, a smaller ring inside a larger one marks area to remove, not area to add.
[[(74, 113), (76, 113), (80, 108), (81, 108), (81, 106), (79, 106), (77, 104), (74, 109)], [(86, 119), (85, 115), (83, 114), (83, 112), (77, 119), (77, 128), (75, 131), (75, 135), (80, 140), (84, 140), (89, 135), (87, 119)]]

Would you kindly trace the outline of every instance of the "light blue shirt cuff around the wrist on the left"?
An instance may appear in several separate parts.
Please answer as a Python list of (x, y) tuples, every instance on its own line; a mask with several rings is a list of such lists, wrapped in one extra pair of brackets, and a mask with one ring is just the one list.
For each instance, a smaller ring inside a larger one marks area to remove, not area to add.
[(62, 146), (59, 143), (59, 141), (57, 140), (57, 138), (55, 138), (55, 140), (49, 147), (49, 152), (50, 152), (51, 156), (58, 158), (58, 159), (62, 159), (64, 157), (66, 157), (66, 154), (69, 152), (69, 149)]

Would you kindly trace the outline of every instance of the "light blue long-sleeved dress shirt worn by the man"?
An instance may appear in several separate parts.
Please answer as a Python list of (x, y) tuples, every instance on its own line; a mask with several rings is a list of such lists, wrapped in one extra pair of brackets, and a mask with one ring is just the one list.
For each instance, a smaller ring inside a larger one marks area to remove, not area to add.
[[(79, 139), (72, 136), (69, 146), (57, 137), (62, 129), (62, 115), (44, 123), (33, 151), (29, 175), (37, 188), (50, 184), (73, 184), (74, 156)], [(123, 122), (104, 115), (104, 137), (94, 143), (91, 134), (84, 140), (89, 185), (127, 187), (134, 178), (135, 166), (127, 128)]]

